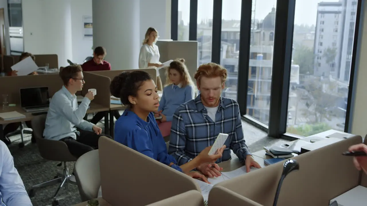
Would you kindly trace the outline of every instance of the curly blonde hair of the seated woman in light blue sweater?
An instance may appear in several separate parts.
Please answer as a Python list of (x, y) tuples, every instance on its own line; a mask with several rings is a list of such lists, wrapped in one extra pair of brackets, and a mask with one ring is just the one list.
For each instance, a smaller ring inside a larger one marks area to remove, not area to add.
[(189, 70), (185, 65), (185, 59), (175, 59), (173, 62), (170, 63), (170, 66), (166, 69), (166, 86), (172, 84), (170, 80), (170, 70), (174, 69), (181, 75), (181, 84), (182, 87), (186, 87), (187, 85), (191, 85), (193, 88), (195, 87), (194, 82), (192, 81)]

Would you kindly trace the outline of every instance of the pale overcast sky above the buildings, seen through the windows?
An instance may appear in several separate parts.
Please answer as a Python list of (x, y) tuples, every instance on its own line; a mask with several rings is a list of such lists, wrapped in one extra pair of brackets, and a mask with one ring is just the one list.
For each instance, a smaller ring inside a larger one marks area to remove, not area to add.
[[(317, 3), (321, 1), (338, 0), (297, 0), (294, 23), (312, 25), (316, 23)], [(254, 3), (255, 0), (252, 0)], [(198, 0), (197, 21), (201, 19), (213, 18), (213, 0)], [(256, 0), (255, 19), (262, 20), (276, 7), (276, 0)], [(190, 18), (190, 0), (179, 0), (178, 10), (182, 11), (182, 20), (186, 24)], [(241, 0), (223, 0), (222, 19), (240, 20), (241, 18)]]

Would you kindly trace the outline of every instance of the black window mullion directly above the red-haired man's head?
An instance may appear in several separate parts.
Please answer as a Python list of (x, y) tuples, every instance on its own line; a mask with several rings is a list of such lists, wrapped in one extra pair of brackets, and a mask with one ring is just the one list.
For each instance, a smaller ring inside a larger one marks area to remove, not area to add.
[(221, 62), (222, 0), (213, 1), (213, 27), (211, 37), (211, 62)]

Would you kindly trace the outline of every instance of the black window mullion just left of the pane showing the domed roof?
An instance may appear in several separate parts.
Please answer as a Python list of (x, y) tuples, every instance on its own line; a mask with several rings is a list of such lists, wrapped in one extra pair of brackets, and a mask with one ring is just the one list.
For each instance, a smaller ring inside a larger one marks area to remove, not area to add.
[(242, 0), (238, 60), (237, 102), (241, 115), (247, 114), (248, 70), (250, 67), (252, 0)]

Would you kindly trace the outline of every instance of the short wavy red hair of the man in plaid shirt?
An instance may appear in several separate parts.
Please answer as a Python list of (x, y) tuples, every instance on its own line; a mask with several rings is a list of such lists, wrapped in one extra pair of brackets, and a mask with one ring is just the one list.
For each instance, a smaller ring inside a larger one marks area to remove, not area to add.
[(199, 66), (194, 75), (196, 83), (199, 86), (201, 77), (221, 77), (222, 83), (224, 83), (227, 79), (227, 70), (216, 63), (207, 63)]

